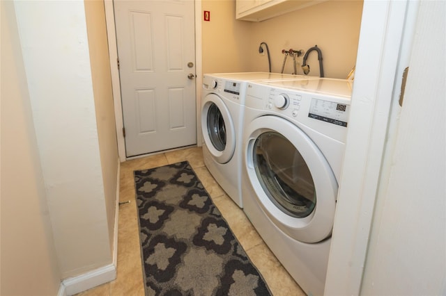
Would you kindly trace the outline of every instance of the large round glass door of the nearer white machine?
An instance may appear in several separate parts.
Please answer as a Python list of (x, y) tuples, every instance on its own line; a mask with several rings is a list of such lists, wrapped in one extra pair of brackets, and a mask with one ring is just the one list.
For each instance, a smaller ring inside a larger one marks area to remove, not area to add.
[(247, 174), (263, 212), (295, 240), (328, 238), (338, 186), (316, 144), (298, 126), (272, 115), (253, 120), (245, 134)]

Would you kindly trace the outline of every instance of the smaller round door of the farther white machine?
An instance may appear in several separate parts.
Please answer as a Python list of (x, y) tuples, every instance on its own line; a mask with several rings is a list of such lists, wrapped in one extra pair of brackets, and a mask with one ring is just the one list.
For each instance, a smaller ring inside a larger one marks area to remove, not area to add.
[(230, 161), (236, 149), (236, 131), (231, 113), (217, 94), (208, 94), (203, 99), (201, 131), (215, 160), (222, 164)]

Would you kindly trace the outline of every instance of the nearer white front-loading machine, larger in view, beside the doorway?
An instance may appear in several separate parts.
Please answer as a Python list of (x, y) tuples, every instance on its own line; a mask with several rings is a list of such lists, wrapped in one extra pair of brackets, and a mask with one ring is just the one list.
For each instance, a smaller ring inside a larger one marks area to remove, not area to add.
[(243, 211), (308, 295), (323, 295), (351, 82), (247, 83)]

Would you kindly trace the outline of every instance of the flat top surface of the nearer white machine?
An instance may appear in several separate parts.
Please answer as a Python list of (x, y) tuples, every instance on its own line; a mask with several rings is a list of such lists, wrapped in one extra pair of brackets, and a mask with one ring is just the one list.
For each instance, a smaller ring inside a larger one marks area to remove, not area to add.
[(283, 79), (277, 81), (264, 80), (256, 82), (275, 88), (303, 90), (305, 92), (316, 92), (319, 94), (328, 94), (346, 98), (351, 98), (351, 92), (353, 89), (352, 81), (348, 81), (346, 79)]

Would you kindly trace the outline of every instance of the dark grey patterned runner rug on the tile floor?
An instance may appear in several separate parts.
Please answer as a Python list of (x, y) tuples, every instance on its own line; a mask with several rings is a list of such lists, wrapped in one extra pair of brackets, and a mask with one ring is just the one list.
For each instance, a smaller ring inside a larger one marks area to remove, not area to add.
[(271, 295), (187, 161), (134, 181), (146, 295)]

